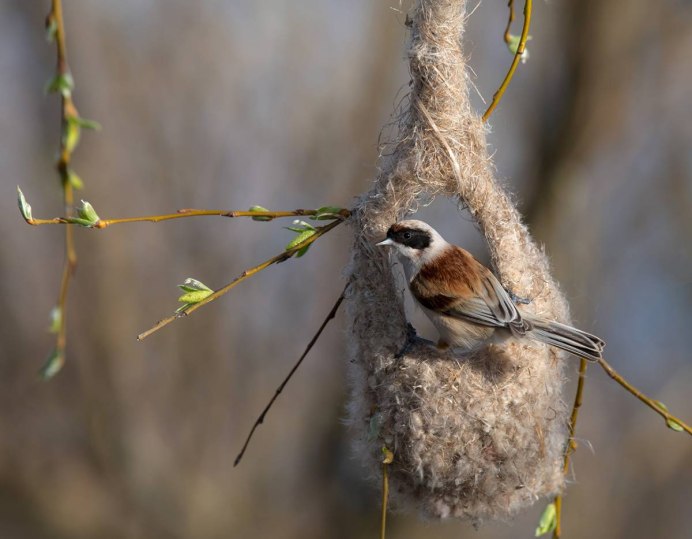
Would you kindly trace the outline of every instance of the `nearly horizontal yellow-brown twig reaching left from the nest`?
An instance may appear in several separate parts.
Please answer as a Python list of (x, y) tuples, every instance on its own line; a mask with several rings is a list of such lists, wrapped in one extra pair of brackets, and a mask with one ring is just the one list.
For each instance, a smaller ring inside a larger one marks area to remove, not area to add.
[[(123, 217), (117, 219), (99, 219), (89, 228), (103, 229), (111, 225), (120, 225), (125, 223), (158, 223), (159, 221), (170, 221), (172, 219), (184, 219), (187, 217), (253, 217), (262, 218), (263, 220), (270, 221), (272, 219), (278, 219), (282, 217), (304, 217), (310, 215), (317, 215), (317, 210), (290, 210), (290, 211), (229, 211), (229, 210), (197, 210), (191, 208), (184, 208), (178, 210), (176, 213), (167, 213), (163, 215), (145, 215), (141, 217)], [(340, 218), (347, 218), (350, 215), (350, 211), (347, 209), (340, 209), (337, 214)], [(30, 225), (75, 225), (79, 224), (75, 222), (70, 217), (53, 217), (52, 219), (28, 219), (27, 223)]]

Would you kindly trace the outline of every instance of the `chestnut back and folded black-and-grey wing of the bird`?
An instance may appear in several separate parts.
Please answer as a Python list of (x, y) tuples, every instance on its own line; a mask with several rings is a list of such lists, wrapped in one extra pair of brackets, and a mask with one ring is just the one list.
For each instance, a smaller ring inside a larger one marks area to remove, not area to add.
[(510, 327), (520, 333), (528, 329), (509, 294), (488, 268), (458, 247), (445, 256), (444, 271), (439, 267), (421, 270), (411, 282), (411, 292), (421, 305), (483, 326)]

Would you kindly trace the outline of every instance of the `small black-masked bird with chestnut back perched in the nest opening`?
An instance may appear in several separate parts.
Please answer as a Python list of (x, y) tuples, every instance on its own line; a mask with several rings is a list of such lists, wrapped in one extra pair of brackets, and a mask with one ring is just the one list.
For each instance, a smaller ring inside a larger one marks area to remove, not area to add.
[(440, 348), (474, 350), (502, 338), (528, 337), (590, 361), (605, 342), (580, 329), (521, 314), (513, 295), (470, 253), (447, 243), (430, 225), (393, 224), (377, 245), (398, 251), (411, 294), (440, 334)]

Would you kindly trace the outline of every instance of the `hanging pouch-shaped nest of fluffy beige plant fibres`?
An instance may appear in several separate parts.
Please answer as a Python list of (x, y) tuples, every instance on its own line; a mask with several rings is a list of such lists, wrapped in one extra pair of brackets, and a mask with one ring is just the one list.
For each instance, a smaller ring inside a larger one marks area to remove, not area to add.
[(417, 2), (408, 107), (390, 160), (351, 218), (349, 414), (358, 458), (373, 475), (382, 446), (394, 452), (399, 507), (480, 522), (563, 488), (564, 358), (528, 339), (472, 356), (411, 339), (388, 255), (374, 246), (419, 201), (455, 198), (478, 222), (502, 283), (531, 298), (524, 309), (569, 322), (544, 254), (493, 177), (485, 128), (469, 105), (465, 7), (463, 0)]

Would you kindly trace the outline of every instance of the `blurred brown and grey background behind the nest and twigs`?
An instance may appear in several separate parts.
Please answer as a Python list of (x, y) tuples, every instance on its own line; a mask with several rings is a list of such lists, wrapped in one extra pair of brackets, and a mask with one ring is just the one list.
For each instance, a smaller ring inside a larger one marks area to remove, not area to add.
[[(407, 89), (408, 5), (64, 4), (75, 101), (103, 126), (75, 153), (86, 185), (77, 196), (102, 217), (348, 207), (375, 177), (378, 134)], [(225, 284), (281, 250), (287, 223), (76, 230), (68, 362), (53, 381), (37, 379), (53, 346), (64, 231), (25, 225), (15, 187), (35, 216), (62, 214), (59, 101), (43, 93), (55, 64), (49, 7), (0, 3), (0, 537), (375, 537), (378, 484), (351, 457), (343, 424), (343, 313), (233, 468), (341, 291), (345, 227), (141, 343), (135, 336), (177, 307), (176, 284)], [(486, 0), (469, 20), (479, 112), (511, 61), (506, 16), (504, 0)], [(498, 177), (545, 245), (575, 323), (690, 421), (692, 4), (538, 2), (531, 34), (530, 60), (491, 118)], [(451, 203), (420, 215), (485, 256)], [(690, 438), (597, 367), (585, 399), (564, 536), (686, 536)], [(397, 514), (388, 537), (531, 537), (543, 506), (478, 532)]]

